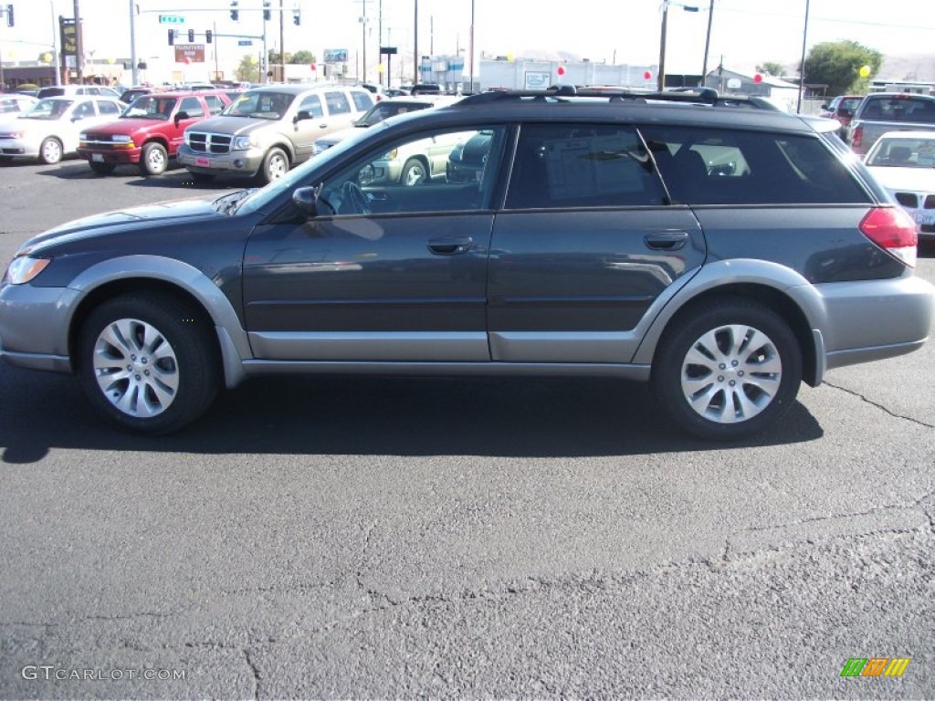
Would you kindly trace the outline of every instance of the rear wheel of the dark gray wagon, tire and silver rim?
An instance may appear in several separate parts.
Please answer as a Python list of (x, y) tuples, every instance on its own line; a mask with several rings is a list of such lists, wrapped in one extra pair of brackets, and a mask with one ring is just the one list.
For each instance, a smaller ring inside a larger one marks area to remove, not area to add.
[(651, 381), (657, 402), (684, 431), (737, 440), (778, 421), (792, 406), (802, 380), (801, 350), (771, 309), (712, 300), (669, 322), (669, 329)]

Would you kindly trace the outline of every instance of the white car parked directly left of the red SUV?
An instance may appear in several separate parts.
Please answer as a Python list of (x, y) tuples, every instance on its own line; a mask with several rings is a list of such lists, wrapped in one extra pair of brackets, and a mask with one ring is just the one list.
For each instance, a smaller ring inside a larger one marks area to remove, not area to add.
[(117, 119), (126, 107), (111, 97), (46, 97), (0, 125), (0, 158), (38, 158), (56, 164), (78, 150), (79, 133)]

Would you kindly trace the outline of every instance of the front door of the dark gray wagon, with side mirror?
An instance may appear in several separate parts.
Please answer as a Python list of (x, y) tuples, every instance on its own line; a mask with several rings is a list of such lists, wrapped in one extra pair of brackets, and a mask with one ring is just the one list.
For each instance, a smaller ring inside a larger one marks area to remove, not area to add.
[(358, 185), (386, 150), (422, 137), (384, 143), (307, 183), (320, 184), (318, 216), (305, 221), (287, 207), (256, 228), (243, 293), (258, 358), (489, 361), (489, 181)]

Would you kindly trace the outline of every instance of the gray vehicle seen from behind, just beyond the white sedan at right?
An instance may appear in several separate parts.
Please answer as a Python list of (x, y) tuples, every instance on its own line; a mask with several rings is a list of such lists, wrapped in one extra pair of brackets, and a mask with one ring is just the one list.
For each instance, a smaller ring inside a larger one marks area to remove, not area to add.
[(860, 102), (847, 138), (865, 155), (886, 132), (935, 129), (935, 97), (913, 93), (870, 93)]

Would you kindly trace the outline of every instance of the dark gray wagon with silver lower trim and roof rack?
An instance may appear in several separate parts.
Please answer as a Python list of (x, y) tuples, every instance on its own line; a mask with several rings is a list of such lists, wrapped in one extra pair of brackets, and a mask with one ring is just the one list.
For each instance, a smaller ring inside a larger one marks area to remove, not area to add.
[[(822, 122), (573, 92), (473, 95), (262, 190), (36, 236), (0, 286), (0, 351), (146, 433), (273, 372), (555, 374), (648, 381), (673, 426), (734, 439), (803, 379), (925, 342), (913, 222)], [(451, 139), (457, 177), (378, 177)]]

